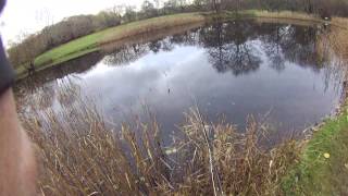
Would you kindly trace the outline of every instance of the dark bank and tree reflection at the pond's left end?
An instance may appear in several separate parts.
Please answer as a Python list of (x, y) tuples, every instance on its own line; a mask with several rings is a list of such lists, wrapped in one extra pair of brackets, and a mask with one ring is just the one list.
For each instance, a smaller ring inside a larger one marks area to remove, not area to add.
[[(64, 97), (63, 103), (66, 103), (66, 107), (69, 107), (71, 102), (74, 102), (74, 100), (72, 100), (72, 96), (61, 96), (62, 94), (59, 94), (57, 91), (57, 86), (61, 85), (61, 81), (71, 82), (73, 81), (71, 78), (74, 78), (76, 81), (75, 74), (83, 73), (89, 70), (91, 66), (96, 65), (102, 58), (102, 53), (94, 52), (91, 54), (62, 63), (59, 66), (53, 66), (51, 69), (40, 71), (33, 76), (18, 81), (15, 85), (14, 93), (16, 94), (17, 101), (21, 102), (20, 106), (37, 107), (40, 110), (45, 110), (53, 106), (54, 99), (57, 97)], [(65, 77), (66, 75), (69, 76)], [(72, 89), (70, 91), (76, 91), (77, 86), (74, 86), (74, 90), (73, 88), (66, 89)], [(30, 103), (35, 101), (39, 105), (33, 106)], [(20, 110), (25, 110), (25, 108), (20, 107)]]

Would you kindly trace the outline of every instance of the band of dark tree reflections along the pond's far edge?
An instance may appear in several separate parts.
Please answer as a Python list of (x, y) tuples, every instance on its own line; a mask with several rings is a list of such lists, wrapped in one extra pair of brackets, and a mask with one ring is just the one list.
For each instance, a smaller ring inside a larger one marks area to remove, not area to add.
[[(152, 40), (148, 44), (125, 46), (109, 54), (104, 62), (110, 65), (128, 64), (152, 51), (172, 51), (175, 46), (202, 46), (209, 61), (217, 72), (232, 71), (235, 75), (257, 71), (263, 52), (270, 66), (277, 72), (285, 62), (309, 66), (318, 71), (313, 27), (264, 24), (252, 21), (215, 22), (210, 26)], [(262, 50), (262, 52), (260, 52)]]

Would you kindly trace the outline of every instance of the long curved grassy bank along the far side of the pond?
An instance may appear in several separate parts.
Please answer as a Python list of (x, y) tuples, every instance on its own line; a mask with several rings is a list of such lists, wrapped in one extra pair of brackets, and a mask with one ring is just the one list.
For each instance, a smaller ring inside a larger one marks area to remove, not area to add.
[[(266, 11), (240, 11), (238, 14), (234, 12), (223, 12), (220, 15), (214, 13), (185, 13), (166, 15), (161, 17), (153, 17), (149, 20), (142, 20), (138, 22), (120, 25), (116, 27), (108, 28), (88, 36), (80, 37), (54, 49), (51, 49), (40, 56), (38, 56), (34, 65), (36, 71), (47, 69), (60, 64), (62, 62), (82, 57), (84, 54), (100, 50), (100, 47), (104, 44), (122, 40), (132, 36), (158, 32), (169, 27), (182, 26), (192, 23), (203, 22), (207, 19), (223, 17), (223, 19), (235, 19), (235, 17), (263, 17), (263, 19), (278, 19), (278, 20), (298, 20), (298, 21), (310, 21), (319, 22), (321, 20), (313, 15), (307, 15), (295, 12), (266, 12)], [(289, 22), (289, 21), (288, 21)], [(22, 65), (16, 69), (18, 77), (25, 77), (27, 75), (28, 65)]]

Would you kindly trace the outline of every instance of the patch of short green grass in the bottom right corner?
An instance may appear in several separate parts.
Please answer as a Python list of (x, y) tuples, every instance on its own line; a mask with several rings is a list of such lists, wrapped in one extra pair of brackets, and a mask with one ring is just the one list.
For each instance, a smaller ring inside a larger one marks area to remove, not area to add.
[(284, 179), (286, 195), (347, 195), (348, 112), (325, 122), (301, 156), (300, 162)]

